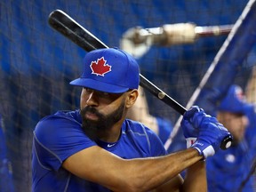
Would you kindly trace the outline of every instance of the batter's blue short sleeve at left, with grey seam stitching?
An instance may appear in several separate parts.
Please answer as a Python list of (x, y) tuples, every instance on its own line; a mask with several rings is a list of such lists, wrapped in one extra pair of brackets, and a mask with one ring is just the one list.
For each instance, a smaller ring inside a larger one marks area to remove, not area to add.
[(34, 143), (40, 164), (54, 170), (68, 156), (96, 145), (84, 134), (81, 124), (58, 116), (44, 118), (36, 125)]

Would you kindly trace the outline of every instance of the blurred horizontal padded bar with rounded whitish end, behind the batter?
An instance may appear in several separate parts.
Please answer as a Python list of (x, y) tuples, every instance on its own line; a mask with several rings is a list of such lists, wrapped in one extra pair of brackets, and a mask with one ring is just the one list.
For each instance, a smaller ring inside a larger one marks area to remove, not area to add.
[(233, 25), (196, 26), (195, 23), (165, 24), (157, 28), (129, 28), (124, 32), (120, 44), (124, 51), (136, 59), (142, 57), (152, 45), (172, 46), (194, 44), (205, 36), (228, 35)]

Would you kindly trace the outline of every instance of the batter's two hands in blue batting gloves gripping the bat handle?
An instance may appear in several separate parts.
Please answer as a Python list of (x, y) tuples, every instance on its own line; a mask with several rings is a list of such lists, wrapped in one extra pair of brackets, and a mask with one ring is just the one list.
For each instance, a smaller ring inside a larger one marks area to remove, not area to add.
[(215, 117), (206, 115), (204, 110), (197, 106), (193, 106), (184, 114), (181, 127), (187, 145), (189, 138), (197, 138), (191, 148), (196, 148), (204, 158), (213, 156), (220, 148), (221, 141), (231, 135)]

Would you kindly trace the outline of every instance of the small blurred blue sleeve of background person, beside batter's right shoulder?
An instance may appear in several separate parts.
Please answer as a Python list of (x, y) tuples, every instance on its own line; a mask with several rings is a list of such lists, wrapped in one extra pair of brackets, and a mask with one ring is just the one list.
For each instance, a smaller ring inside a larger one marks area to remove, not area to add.
[(165, 143), (168, 140), (171, 132), (172, 132), (172, 123), (167, 119), (163, 119), (160, 117), (156, 117), (158, 124), (158, 137)]

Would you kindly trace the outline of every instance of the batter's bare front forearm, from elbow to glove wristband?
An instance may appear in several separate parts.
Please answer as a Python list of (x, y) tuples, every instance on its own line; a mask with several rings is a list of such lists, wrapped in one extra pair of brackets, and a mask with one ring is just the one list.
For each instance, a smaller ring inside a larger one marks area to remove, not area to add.
[(141, 159), (131, 160), (130, 172), (127, 175), (132, 175), (132, 178), (127, 181), (134, 185), (135, 191), (137, 189), (148, 191), (171, 180), (192, 164), (200, 161), (200, 159), (202, 159), (202, 156), (198, 156), (196, 149), (189, 148), (172, 155), (163, 156), (157, 160), (154, 160), (154, 158), (146, 161)]

